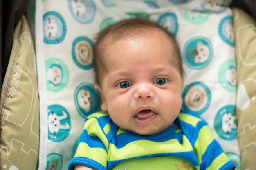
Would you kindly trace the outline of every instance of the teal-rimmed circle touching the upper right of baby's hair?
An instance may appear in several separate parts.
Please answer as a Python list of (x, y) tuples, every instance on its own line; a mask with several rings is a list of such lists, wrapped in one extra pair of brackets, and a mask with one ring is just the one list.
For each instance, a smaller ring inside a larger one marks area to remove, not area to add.
[(179, 30), (178, 18), (175, 13), (164, 13), (159, 17), (157, 23), (166, 28), (173, 35), (177, 35)]

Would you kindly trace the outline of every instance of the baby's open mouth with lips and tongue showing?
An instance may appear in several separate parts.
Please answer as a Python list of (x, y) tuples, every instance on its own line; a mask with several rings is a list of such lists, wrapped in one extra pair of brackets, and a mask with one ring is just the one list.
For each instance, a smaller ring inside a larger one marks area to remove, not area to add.
[(143, 110), (137, 113), (136, 116), (134, 116), (134, 121), (139, 126), (144, 126), (144, 125), (150, 124), (150, 122), (153, 121), (155, 116), (157, 116), (157, 113), (151, 110)]

